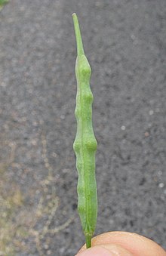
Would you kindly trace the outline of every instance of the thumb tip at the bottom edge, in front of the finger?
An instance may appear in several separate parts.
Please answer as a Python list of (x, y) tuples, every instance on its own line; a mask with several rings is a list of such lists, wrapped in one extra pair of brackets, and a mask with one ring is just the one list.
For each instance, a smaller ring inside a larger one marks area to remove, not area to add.
[(105, 244), (88, 248), (75, 256), (133, 256), (130, 251), (122, 248), (121, 245)]

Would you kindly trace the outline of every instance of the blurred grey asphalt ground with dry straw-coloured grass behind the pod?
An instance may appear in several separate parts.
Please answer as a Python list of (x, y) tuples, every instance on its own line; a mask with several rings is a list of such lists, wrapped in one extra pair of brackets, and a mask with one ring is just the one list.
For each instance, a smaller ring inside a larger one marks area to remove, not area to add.
[(76, 254), (78, 14), (91, 63), (96, 233), (166, 248), (166, 2), (11, 0), (0, 12), (0, 255)]

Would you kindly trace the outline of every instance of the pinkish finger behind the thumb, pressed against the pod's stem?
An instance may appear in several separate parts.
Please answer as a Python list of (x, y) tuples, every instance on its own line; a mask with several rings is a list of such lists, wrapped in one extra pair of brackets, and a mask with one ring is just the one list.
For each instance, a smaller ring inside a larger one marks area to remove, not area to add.
[[(92, 246), (112, 243), (121, 245), (122, 248), (130, 251), (134, 256), (166, 256), (166, 251), (156, 242), (136, 233), (115, 231), (103, 233), (92, 239)], [(84, 250), (85, 246), (81, 248), (80, 252)]]

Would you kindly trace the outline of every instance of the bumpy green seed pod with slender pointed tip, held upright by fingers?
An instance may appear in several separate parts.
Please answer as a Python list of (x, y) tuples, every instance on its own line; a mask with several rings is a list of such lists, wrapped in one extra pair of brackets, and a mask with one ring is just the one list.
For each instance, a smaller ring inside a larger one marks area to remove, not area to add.
[(97, 223), (97, 184), (95, 178), (97, 140), (94, 137), (92, 126), (92, 102), (94, 97), (90, 88), (91, 66), (85, 57), (78, 18), (76, 14), (73, 14), (72, 17), (78, 55), (75, 63), (77, 133), (73, 149), (78, 170), (78, 213), (85, 233), (86, 245), (89, 248)]

